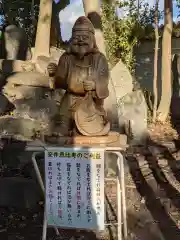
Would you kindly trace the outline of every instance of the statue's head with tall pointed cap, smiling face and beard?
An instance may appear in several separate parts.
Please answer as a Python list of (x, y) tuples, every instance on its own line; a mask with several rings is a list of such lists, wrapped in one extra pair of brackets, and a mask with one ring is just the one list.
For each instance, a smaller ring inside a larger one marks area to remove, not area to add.
[(94, 33), (91, 21), (87, 17), (79, 17), (72, 29), (71, 51), (80, 58), (97, 51)]

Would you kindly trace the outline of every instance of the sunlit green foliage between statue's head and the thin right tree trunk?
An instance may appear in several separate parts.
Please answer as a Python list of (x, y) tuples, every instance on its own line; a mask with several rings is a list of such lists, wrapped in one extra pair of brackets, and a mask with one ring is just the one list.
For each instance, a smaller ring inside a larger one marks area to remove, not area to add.
[[(120, 19), (116, 9), (127, 9), (126, 15)], [(119, 58), (133, 72), (133, 50), (143, 36), (153, 33), (154, 7), (143, 1), (137, 6), (136, 0), (121, 3), (103, 3), (103, 31), (107, 45), (107, 56), (113, 62), (119, 53)], [(128, 11), (129, 10), (129, 11)], [(159, 13), (159, 18), (161, 14)]]

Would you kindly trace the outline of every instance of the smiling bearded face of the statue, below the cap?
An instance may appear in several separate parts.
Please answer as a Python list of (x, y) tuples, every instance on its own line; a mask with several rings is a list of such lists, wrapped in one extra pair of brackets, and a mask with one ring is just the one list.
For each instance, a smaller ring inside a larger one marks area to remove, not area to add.
[(93, 48), (93, 34), (85, 31), (76, 31), (72, 35), (72, 52), (83, 58)]

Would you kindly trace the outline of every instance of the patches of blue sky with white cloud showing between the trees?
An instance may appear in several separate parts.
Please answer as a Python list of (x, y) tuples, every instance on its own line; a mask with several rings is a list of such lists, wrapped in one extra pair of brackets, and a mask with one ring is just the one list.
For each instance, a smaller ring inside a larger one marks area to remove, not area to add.
[[(55, 0), (58, 1), (58, 0)], [(63, 0), (59, 0), (63, 1)], [(89, 0), (90, 1), (90, 0)], [(155, 0), (145, 0), (153, 6), (155, 4)], [(164, 0), (159, 0), (159, 9), (164, 9)], [(123, 15), (125, 12), (123, 13)], [(59, 19), (61, 22), (61, 35), (64, 41), (69, 40), (71, 37), (72, 26), (75, 23), (76, 19), (80, 16), (84, 15), (84, 9), (82, 0), (70, 0), (70, 5), (68, 5), (63, 11), (59, 13)], [(178, 9), (176, 7), (176, 0), (173, 0), (173, 20), (176, 22), (179, 20)], [(163, 23), (163, 19), (160, 23)]]

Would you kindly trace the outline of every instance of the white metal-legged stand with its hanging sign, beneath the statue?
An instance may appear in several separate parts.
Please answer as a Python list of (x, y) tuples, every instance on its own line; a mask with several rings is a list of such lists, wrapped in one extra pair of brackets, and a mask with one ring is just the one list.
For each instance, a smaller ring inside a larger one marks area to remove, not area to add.
[[(127, 239), (127, 215), (122, 147), (106, 148), (44, 148), (29, 147), (28, 151), (45, 151), (45, 182), (36, 162), (32, 162), (39, 185), (45, 194), (42, 240), (47, 227), (104, 230), (104, 152), (117, 156), (117, 239)], [(108, 180), (108, 179), (106, 179)]]

